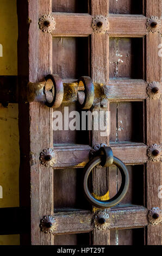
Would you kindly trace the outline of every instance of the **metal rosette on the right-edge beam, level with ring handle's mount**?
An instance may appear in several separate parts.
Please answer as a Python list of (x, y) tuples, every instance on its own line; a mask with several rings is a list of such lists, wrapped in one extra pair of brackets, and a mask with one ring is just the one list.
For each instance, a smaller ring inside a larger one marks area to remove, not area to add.
[(147, 156), (149, 160), (153, 162), (159, 162), (162, 160), (162, 144), (153, 144), (147, 150)]

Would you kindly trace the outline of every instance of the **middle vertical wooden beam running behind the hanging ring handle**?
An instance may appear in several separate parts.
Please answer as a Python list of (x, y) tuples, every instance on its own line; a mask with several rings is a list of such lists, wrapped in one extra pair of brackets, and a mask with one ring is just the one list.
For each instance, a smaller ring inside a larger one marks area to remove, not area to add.
[[(91, 13), (92, 16), (103, 15), (107, 16), (109, 13), (108, 0), (92, 0)], [(91, 35), (91, 65), (92, 65), (92, 80), (97, 83), (107, 83), (109, 80), (109, 36), (108, 34), (92, 34)], [(95, 107), (94, 111), (108, 111), (107, 108)], [(92, 131), (92, 145), (97, 143), (108, 144), (109, 137), (101, 136), (101, 131)], [(97, 196), (107, 193), (107, 168), (95, 169), (92, 174), (92, 184), (94, 193)], [(94, 208), (94, 211), (99, 209)], [(103, 209), (102, 209), (103, 210)], [(95, 229), (92, 232), (92, 242), (94, 245), (109, 245), (109, 230)]]

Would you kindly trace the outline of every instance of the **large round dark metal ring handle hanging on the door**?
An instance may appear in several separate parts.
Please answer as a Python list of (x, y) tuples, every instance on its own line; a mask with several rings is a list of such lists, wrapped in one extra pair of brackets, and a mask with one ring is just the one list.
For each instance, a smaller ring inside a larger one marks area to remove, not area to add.
[(115, 166), (117, 168), (119, 168), (119, 170), (121, 172), (121, 176), (122, 176), (122, 183), (121, 183), (120, 190), (117, 192), (117, 194), (113, 198), (111, 198), (109, 200), (105, 200), (105, 201), (98, 200), (98, 199), (94, 198), (89, 191), (88, 178), (91, 173), (91, 170), (93, 168), (95, 168), (98, 164), (100, 164), (101, 162), (102, 162), (102, 156), (96, 156), (85, 167), (84, 193), (85, 193), (85, 197), (89, 200), (89, 202), (92, 205), (94, 205), (98, 208), (110, 208), (110, 207), (118, 204), (119, 202), (121, 202), (121, 200), (126, 195), (126, 193), (128, 191), (128, 187), (129, 187), (129, 174), (128, 174), (128, 170), (127, 170), (126, 166), (124, 165), (124, 163), (120, 159), (118, 159), (117, 157), (114, 156), (113, 164), (115, 164)]

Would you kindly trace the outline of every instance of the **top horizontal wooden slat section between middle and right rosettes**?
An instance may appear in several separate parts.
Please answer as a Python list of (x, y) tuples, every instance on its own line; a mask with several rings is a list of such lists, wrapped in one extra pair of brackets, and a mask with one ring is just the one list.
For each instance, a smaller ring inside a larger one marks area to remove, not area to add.
[(110, 14), (109, 35), (145, 35), (147, 17), (143, 15)]

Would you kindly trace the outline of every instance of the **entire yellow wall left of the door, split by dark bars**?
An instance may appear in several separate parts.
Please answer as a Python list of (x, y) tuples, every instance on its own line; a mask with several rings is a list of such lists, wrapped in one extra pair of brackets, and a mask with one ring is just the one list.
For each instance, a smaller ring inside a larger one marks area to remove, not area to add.
[[(16, 0), (0, 0), (0, 75), (17, 75), (17, 13)], [(3, 198), (0, 208), (17, 207), (18, 201), (18, 105), (8, 108), (0, 104), (0, 186)], [(0, 195), (1, 197), (1, 195)], [(0, 245), (18, 245), (19, 235), (0, 236)]]

